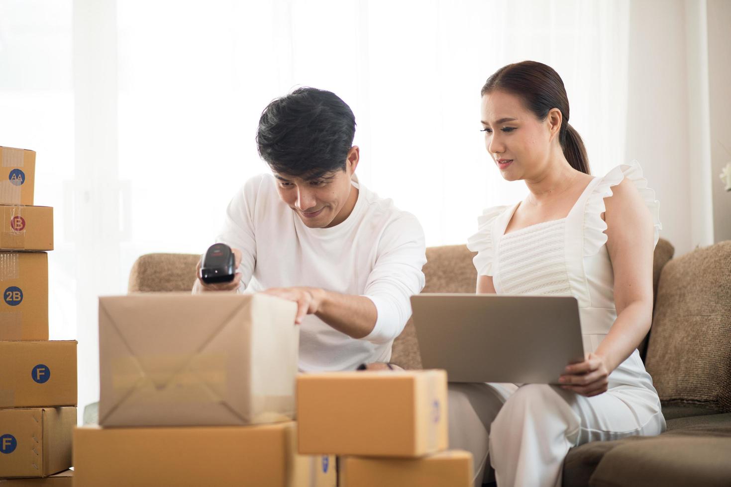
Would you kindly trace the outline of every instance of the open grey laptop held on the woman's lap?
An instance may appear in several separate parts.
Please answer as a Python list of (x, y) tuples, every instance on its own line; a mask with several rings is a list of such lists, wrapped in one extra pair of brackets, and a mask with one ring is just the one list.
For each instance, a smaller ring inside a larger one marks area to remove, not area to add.
[(424, 369), (450, 382), (558, 384), (583, 361), (572, 296), (417, 294), (412, 312)]

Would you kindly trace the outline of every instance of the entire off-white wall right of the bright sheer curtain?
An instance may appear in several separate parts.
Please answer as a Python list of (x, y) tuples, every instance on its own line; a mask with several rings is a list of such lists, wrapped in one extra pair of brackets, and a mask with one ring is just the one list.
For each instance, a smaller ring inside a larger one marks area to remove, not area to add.
[(726, 0), (630, 4), (626, 158), (655, 189), (675, 256), (731, 239), (719, 179), (731, 161), (730, 24)]

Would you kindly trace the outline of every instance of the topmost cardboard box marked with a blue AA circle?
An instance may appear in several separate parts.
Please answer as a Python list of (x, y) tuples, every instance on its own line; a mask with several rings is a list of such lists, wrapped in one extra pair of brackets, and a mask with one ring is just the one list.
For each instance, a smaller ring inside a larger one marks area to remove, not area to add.
[(36, 153), (0, 147), (0, 204), (33, 204)]

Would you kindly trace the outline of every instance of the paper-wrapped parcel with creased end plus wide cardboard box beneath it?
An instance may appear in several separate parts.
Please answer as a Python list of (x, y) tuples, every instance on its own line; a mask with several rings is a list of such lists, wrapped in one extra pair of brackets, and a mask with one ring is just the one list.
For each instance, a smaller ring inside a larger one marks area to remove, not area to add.
[(267, 295), (99, 299), (99, 426), (74, 485), (334, 487), (297, 453), (295, 303)]

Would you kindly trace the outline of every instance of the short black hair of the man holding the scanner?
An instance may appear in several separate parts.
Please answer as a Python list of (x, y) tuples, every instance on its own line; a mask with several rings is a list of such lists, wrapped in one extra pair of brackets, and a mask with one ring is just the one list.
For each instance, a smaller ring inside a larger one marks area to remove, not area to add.
[(262, 112), (257, 129), (259, 155), (284, 175), (317, 179), (345, 170), (355, 137), (355, 115), (338, 96), (299, 88)]

